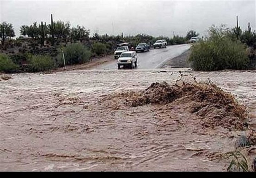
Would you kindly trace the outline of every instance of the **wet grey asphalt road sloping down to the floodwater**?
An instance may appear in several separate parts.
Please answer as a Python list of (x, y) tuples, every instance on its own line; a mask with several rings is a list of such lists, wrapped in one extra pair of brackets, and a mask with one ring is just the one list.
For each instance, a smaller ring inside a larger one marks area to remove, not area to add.
[[(161, 68), (165, 62), (175, 58), (191, 47), (190, 44), (185, 45), (172, 45), (167, 46), (166, 48), (156, 48), (150, 49), (148, 52), (139, 52), (138, 53), (138, 66), (137, 69), (154, 69)], [(97, 69), (117, 69), (116, 60), (108, 63), (102, 64), (97, 67)]]

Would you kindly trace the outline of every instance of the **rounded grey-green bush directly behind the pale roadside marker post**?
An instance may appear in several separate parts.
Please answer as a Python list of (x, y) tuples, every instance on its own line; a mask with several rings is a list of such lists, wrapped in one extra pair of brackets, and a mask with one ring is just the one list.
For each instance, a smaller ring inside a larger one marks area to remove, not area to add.
[[(83, 64), (89, 62), (91, 58), (91, 52), (80, 43), (73, 43), (67, 45), (67, 47), (63, 49), (63, 52), (66, 65)], [(59, 50), (57, 56), (57, 63), (58, 66), (64, 66), (61, 50)]]

